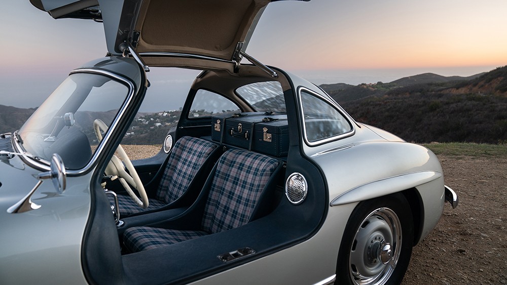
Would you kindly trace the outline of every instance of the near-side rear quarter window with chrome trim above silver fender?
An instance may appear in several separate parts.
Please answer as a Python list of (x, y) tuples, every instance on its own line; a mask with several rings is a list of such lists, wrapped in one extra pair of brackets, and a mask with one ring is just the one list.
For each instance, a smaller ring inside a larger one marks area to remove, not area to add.
[(301, 91), (301, 106), (308, 142), (339, 136), (352, 131), (349, 121), (323, 99)]

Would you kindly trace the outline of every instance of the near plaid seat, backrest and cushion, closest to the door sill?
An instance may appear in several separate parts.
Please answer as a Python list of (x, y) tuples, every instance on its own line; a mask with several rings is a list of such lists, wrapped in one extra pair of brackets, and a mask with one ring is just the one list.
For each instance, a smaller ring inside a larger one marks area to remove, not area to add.
[(212, 174), (199, 230), (132, 227), (124, 233), (124, 245), (131, 252), (149, 250), (248, 223), (278, 164), (259, 153), (228, 150)]

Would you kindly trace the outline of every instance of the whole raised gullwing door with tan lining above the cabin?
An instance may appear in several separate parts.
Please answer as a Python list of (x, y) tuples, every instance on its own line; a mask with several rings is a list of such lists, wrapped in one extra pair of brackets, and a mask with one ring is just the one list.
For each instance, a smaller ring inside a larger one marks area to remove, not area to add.
[[(273, 0), (278, 1), (278, 0)], [(309, 0), (299, 0), (309, 1)], [(30, 0), (53, 18), (103, 21), (107, 49), (130, 42), (141, 56), (178, 53), (234, 60), (271, 0)], [(142, 55), (142, 53), (145, 53)], [(150, 59), (148, 59), (150, 60)]]

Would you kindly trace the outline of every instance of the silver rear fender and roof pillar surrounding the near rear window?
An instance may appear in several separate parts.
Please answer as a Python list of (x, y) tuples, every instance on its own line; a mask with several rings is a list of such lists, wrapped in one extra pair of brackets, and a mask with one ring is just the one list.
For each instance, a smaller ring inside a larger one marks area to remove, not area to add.
[[(295, 75), (291, 75), (291, 79), (295, 86), (299, 86), (299, 91), (312, 87)], [(313, 92), (329, 97), (320, 89), (313, 88)], [(354, 125), (352, 135), (316, 146), (310, 146), (300, 138), (304, 153), (324, 173), (330, 189), (330, 205), (343, 206), (415, 189), (421, 197), (424, 217), (420, 221), (421, 235), (415, 240), (418, 243), (441, 217), (445, 199), (439, 159), (423, 146), (407, 143), (376, 127), (356, 123), (339, 105), (336, 108)], [(302, 133), (302, 123), (299, 127)]]

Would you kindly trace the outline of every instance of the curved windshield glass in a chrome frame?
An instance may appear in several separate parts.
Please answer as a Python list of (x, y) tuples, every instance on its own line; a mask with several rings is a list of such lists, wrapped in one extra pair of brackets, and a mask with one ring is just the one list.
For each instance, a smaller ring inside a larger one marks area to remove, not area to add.
[(111, 77), (71, 74), (19, 130), (23, 147), (48, 161), (58, 153), (68, 169), (83, 168), (99, 143), (94, 120), (110, 126), (128, 93)]

